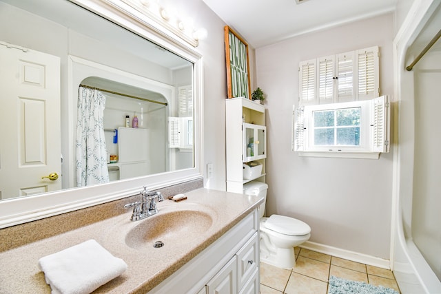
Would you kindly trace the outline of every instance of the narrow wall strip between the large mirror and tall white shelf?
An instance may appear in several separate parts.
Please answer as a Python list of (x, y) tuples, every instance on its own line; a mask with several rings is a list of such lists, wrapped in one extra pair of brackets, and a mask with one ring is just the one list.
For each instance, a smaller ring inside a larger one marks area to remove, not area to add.
[(207, 39), (200, 42), (196, 50), (203, 54), (204, 63), (204, 120), (203, 120), (203, 173), (207, 163), (213, 163), (213, 177), (204, 177), (205, 187), (226, 189), (225, 178), (225, 98), (227, 98), (227, 76), (225, 71), (225, 45), (223, 27), (225, 23), (210, 10), (202, 0), (171, 0), (171, 6), (183, 15), (192, 17), (196, 28), (207, 29)]

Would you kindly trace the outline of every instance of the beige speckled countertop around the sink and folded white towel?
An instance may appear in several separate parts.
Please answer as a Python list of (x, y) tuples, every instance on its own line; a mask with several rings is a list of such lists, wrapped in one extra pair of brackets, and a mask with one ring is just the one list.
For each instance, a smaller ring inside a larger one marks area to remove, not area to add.
[[(127, 263), (127, 271), (123, 275), (96, 289), (94, 293), (147, 293), (263, 202), (263, 198), (258, 196), (209, 189), (190, 191), (185, 196), (187, 200), (180, 202), (167, 199), (158, 202), (159, 212), (156, 216), (161, 215), (161, 211), (165, 214), (176, 210), (207, 213), (212, 223), (190, 238), (176, 240), (173, 244), (164, 242), (161, 248), (153, 248), (153, 245), (148, 244), (137, 246), (136, 242), (130, 244), (126, 242), (127, 232), (155, 218), (151, 216), (132, 222), (130, 210), (79, 229), (3, 251), (0, 253), (0, 293), (50, 293), (44, 273), (39, 270), (38, 260), (90, 239), (96, 240), (107, 251)], [(192, 217), (187, 218), (185, 213), (181, 213), (180, 217), (182, 220), (179, 221), (188, 222), (188, 226), (192, 226), (192, 221), (195, 221)]]

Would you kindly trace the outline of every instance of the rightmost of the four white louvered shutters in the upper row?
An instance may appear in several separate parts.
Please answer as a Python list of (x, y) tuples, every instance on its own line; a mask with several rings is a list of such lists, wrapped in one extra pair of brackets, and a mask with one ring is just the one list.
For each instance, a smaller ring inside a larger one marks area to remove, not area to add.
[(380, 95), (378, 46), (356, 51), (358, 63), (358, 100)]

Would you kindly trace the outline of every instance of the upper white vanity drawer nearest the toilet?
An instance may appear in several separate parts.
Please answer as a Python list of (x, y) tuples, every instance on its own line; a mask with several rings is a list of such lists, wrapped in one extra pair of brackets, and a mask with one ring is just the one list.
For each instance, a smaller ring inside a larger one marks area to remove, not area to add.
[(240, 291), (258, 268), (258, 232), (254, 233), (252, 238), (236, 253), (236, 256), (238, 260), (238, 288)]

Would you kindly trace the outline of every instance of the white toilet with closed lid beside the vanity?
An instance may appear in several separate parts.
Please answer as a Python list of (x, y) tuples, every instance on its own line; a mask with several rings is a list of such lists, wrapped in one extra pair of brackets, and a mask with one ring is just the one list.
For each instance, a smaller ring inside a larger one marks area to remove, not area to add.
[[(243, 193), (262, 196), (267, 201), (268, 185), (265, 182), (248, 182)], [(264, 218), (265, 202), (260, 204), (260, 261), (281, 269), (296, 265), (294, 247), (309, 240), (311, 228), (305, 222), (273, 214)]]

